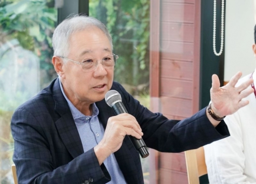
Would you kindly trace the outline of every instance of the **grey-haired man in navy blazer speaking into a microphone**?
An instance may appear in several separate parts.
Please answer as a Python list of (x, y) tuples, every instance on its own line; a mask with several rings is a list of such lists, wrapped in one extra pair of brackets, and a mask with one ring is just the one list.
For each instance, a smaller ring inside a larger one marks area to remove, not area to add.
[[(224, 121), (214, 120), (206, 109), (180, 122), (168, 120), (113, 82), (118, 56), (98, 20), (70, 17), (52, 39), (58, 79), (18, 107), (12, 118), (19, 184), (142, 184), (140, 156), (126, 135), (143, 138), (162, 152), (198, 148), (229, 135)], [(216, 116), (248, 104), (241, 99), (252, 93), (246, 89), (252, 79), (235, 88), (240, 76), (222, 88), (218, 77), (212, 77)], [(110, 89), (120, 93), (128, 113), (115, 115), (108, 107), (104, 96)]]

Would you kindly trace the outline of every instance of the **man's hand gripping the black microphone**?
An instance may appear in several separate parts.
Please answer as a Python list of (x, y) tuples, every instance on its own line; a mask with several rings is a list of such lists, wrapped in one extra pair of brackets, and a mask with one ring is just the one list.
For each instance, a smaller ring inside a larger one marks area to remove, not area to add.
[(110, 117), (102, 140), (94, 147), (100, 165), (110, 154), (119, 150), (126, 135), (142, 138), (143, 133), (135, 117), (128, 113)]

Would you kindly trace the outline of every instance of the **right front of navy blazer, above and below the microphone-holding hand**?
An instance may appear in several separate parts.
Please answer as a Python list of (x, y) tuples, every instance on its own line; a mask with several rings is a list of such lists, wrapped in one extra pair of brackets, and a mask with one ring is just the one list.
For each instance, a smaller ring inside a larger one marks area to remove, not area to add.
[[(115, 113), (111, 107), (109, 107), (104, 100), (96, 102), (96, 105), (99, 109), (98, 118), (102, 123), (104, 129), (106, 129), (106, 125), (108, 122), (108, 118), (115, 116)], [(135, 150), (130, 138), (126, 136), (124, 138), (123, 144), (121, 148), (114, 153), (118, 165), (124, 174), (124, 178), (128, 184), (140, 183), (138, 179), (138, 168), (134, 162), (134, 153), (137, 154), (138, 152)], [(140, 164), (140, 160), (139, 164)], [(140, 165), (141, 166), (141, 165)]]

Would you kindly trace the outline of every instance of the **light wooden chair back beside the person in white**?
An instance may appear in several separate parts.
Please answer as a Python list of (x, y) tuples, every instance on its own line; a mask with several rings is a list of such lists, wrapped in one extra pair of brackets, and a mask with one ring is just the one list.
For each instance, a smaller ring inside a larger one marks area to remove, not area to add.
[[(188, 172), (188, 184), (201, 184), (199, 178), (207, 174), (204, 147), (185, 151), (185, 158)], [(206, 178), (206, 180), (208, 179)]]

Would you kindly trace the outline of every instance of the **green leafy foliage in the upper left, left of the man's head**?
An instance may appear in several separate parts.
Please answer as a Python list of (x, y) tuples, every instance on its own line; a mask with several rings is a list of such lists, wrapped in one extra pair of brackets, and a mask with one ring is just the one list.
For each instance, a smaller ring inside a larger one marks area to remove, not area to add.
[[(52, 33), (57, 22), (57, 10), (48, 8), (46, 0), (6, 0), (0, 7), (0, 41), (18, 39), (24, 49), (40, 57), (40, 67), (50, 79), (53, 66)], [(3, 40), (4, 39), (4, 40)]]

